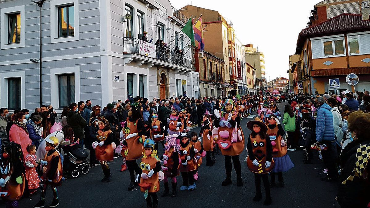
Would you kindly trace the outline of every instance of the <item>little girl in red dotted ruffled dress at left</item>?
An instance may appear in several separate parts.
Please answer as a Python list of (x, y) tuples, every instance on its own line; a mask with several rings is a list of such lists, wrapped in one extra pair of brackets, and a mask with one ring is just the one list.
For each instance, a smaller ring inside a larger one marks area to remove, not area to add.
[(26, 156), (26, 179), (28, 182), (28, 190), (30, 194), (34, 194), (37, 192), (37, 188), (40, 187), (38, 184), (40, 179), (38, 179), (38, 174), (36, 172), (36, 167), (38, 164), (36, 163), (36, 146), (35, 145), (28, 145), (27, 146), (27, 156)]

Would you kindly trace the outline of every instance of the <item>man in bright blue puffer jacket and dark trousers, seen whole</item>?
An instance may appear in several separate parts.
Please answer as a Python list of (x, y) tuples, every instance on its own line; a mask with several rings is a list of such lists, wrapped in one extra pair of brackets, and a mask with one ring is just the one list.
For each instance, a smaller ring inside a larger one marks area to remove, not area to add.
[(316, 117), (316, 141), (317, 145), (325, 144), (327, 150), (321, 151), (323, 162), (327, 168), (327, 176), (322, 181), (338, 180), (338, 169), (336, 166), (337, 148), (334, 134), (332, 108), (325, 103), (323, 97), (316, 97), (314, 106), (317, 108)]

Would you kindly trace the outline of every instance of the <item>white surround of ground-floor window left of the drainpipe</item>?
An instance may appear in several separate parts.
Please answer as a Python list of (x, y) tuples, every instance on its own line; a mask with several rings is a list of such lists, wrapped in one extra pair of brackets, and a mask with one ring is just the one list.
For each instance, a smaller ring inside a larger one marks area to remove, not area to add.
[(26, 108), (26, 71), (0, 73), (0, 106), (8, 106), (9, 78), (21, 78), (21, 109)]

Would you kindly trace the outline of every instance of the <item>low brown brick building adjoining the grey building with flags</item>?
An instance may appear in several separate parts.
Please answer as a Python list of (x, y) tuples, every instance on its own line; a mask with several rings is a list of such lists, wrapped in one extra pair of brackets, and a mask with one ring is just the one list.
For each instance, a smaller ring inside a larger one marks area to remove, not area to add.
[(199, 89), (201, 97), (221, 97), (223, 93), (224, 77), (222, 71), (225, 61), (219, 57), (202, 51), (196, 51), (195, 71), (199, 73)]

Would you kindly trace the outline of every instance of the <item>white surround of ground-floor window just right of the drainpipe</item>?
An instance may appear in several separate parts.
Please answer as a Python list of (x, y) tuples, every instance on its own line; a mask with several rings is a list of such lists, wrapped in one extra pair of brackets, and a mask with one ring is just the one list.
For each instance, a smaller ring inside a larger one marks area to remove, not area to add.
[[(50, 103), (59, 107), (59, 75), (74, 74), (74, 100), (80, 101), (80, 67), (65, 67), (50, 69)], [(56, 110), (63, 110), (58, 108)]]

